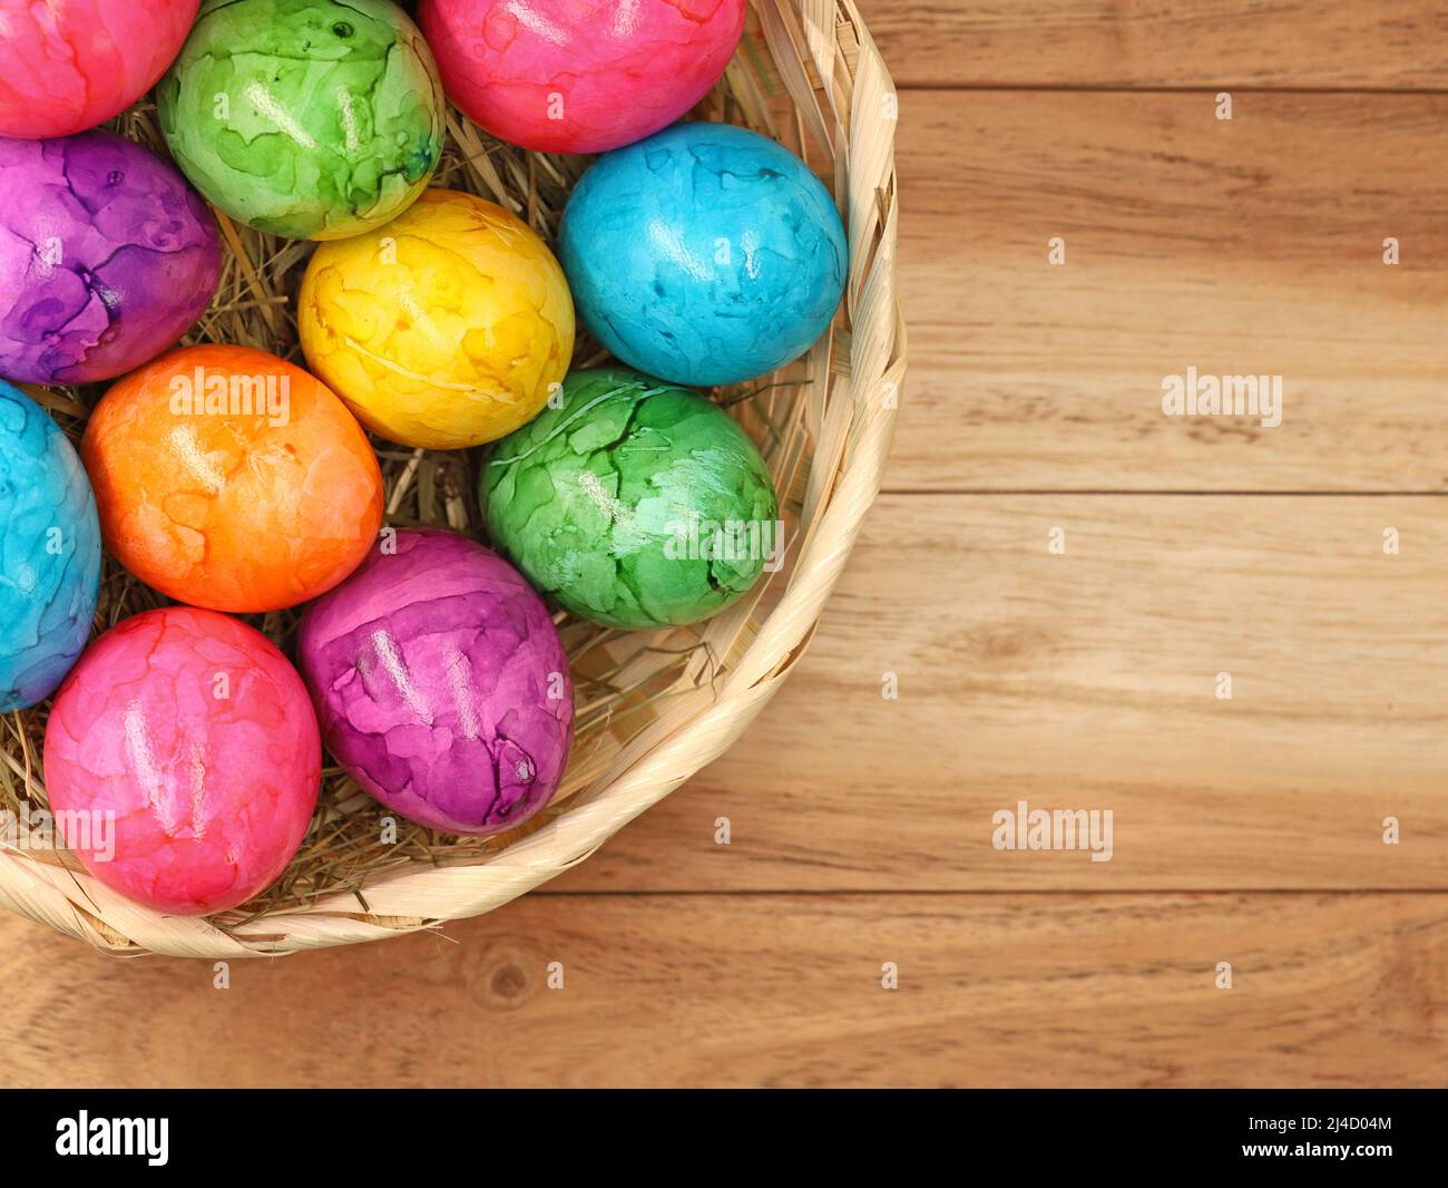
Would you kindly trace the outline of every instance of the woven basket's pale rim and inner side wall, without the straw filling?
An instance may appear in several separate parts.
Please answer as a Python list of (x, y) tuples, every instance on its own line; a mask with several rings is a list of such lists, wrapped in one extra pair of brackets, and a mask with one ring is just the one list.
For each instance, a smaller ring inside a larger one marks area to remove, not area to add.
[[(844, 568), (880, 487), (905, 374), (893, 83), (851, 0), (750, 3), (750, 32), (704, 114), (747, 123), (804, 156), (833, 184), (850, 243), (833, 332), (753, 385), (763, 396), (728, 401), (760, 442), (785, 509), (779, 572), (694, 629), (571, 640), (560, 617), (575, 669), (604, 665), (615, 685), (649, 695), (602, 707), (604, 727), (575, 748), (555, 803), (497, 846), (398, 861), (361, 887), (219, 919), (164, 916), (109, 891), (68, 855), (4, 848), (0, 904), (114, 952), (230, 959), (398, 936), (489, 911), (584, 862), (738, 739), (799, 659)], [(476, 158), (476, 130), (456, 116), (450, 127), (455, 148)], [(6, 759), (4, 778), (35, 778), (38, 755)]]

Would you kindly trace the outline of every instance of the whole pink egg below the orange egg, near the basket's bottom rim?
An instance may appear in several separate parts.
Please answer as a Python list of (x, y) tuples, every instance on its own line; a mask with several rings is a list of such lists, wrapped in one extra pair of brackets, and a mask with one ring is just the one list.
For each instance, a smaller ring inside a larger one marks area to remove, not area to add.
[(45, 727), (45, 791), (67, 846), (106, 887), (180, 916), (275, 882), (320, 775), (297, 671), (266, 636), (195, 607), (106, 632)]

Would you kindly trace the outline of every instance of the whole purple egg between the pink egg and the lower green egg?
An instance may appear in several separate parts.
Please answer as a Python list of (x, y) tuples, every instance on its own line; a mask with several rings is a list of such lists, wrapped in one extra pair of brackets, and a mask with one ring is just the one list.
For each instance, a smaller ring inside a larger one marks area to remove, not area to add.
[(537, 813), (573, 733), (568, 656), (542, 600), (482, 545), (398, 532), (301, 622), (327, 749), (387, 808), (491, 834)]

